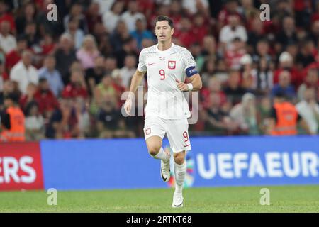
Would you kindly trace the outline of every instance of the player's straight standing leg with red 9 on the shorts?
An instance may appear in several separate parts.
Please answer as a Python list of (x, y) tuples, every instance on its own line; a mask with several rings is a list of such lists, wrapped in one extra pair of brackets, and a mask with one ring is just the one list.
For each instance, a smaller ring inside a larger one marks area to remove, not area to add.
[(174, 153), (175, 192), (172, 207), (182, 207), (183, 184), (186, 177), (186, 150), (191, 150), (187, 119), (167, 121), (167, 138)]

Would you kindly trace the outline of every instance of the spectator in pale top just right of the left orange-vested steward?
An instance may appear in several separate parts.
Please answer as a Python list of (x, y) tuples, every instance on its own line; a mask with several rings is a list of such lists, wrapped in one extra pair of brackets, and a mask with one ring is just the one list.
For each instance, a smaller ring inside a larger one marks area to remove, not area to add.
[(35, 141), (45, 138), (45, 120), (40, 114), (38, 104), (30, 102), (26, 106), (26, 140)]

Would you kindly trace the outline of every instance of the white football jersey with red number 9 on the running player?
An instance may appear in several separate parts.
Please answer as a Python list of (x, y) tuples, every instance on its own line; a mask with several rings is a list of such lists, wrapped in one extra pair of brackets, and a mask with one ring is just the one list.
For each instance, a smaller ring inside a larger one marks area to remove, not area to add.
[(164, 51), (158, 44), (140, 52), (138, 71), (147, 71), (147, 105), (145, 117), (158, 116), (164, 119), (189, 118), (189, 104), (177, 88), (176, 79), (184, 82), (186, 70), (189, 76), (196, 74), (196, 63), (189, 50), (174, 45)]

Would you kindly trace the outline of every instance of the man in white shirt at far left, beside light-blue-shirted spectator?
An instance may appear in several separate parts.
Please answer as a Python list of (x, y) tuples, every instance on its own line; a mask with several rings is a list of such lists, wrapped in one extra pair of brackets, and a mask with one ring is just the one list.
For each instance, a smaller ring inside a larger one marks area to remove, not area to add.
[(32, 52), (23, 51), (21, 61), (14, 65), (10, 72), (10, 79), (18, 84), (22, 94), (26, 94), (30, 82), (38, 84), (38, 70), (31, 65), (32, 58)]

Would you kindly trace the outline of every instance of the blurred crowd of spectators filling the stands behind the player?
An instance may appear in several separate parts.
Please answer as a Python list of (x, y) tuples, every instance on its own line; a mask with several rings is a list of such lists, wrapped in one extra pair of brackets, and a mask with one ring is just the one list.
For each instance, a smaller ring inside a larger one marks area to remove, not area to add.
[(18, 97), (26, 140), (142, 137), (121, 106), (159, 15), (203, 80), (191, 135), (269, 134), (277, 94), (308, 124), (298, 133), (318, 133), (318, 0), (1, 0), (0, 111)]

